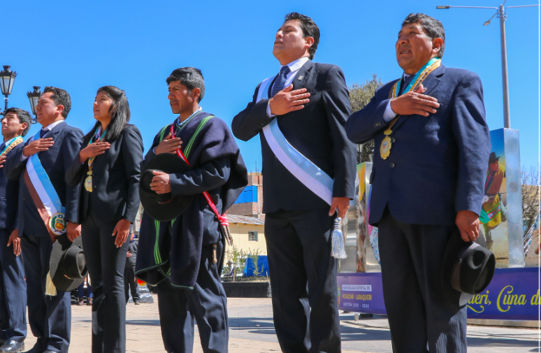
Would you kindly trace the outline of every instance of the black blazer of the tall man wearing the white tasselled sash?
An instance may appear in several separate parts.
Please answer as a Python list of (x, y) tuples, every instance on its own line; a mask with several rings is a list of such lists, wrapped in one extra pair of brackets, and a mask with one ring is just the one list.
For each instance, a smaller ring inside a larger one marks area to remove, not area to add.
[[(274, 84), (274, 82), (273, 82)], [(248, 141), (271, 122), (266, 109), (268, 99), (252, 101), (233, 118), (231, 130), (236, 138)], [(273, 85), (269, 86), (269, 96)], [(336, 65), (308, 60), (297, 72), (293, 89), (306, 88), (310, 102), (301, 110), (275, 117), (287, 141), (334, 179), (333, 197), (353, 198), (355, 192), (356, 146), (347, 139), (345, 122), (351, 114), (344, 73)], [(298, 181), (276, 159), (263, 134), (264, 205), (263, 212), (314, 210), (329, 205)]]

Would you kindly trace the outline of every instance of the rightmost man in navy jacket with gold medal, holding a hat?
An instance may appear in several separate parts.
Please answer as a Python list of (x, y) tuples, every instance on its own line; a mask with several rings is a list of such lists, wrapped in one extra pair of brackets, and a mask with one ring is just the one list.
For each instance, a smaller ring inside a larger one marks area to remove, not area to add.
[(441, 22), (408, 15), (396, 41), (403, 77), (346, 124), (355, 143), (375, 142), (369, 222), (395, 352), (466, 352), (466, 307), (445, 300), (440, 273), (456, 227), (464, 241), (479, 236), (490, 138), (479, 76), (442, 66), (444, 48)]

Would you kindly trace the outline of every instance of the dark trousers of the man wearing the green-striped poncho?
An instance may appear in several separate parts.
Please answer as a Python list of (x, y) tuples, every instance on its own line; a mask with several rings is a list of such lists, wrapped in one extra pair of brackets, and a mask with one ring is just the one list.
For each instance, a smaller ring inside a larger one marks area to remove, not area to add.
[[(222, 243), (217, 243), (218, 257), (222, 250)], [(228, 352), (227, 298), (218, 273), (223, 259), (217, 260), (212, 264), (212, 245), (203, 245), (194, 289), (173, 287), (169, 280), (157, 285), (161, 336), (167, 352), (192, 353), (195, 323), (203, 352)]]

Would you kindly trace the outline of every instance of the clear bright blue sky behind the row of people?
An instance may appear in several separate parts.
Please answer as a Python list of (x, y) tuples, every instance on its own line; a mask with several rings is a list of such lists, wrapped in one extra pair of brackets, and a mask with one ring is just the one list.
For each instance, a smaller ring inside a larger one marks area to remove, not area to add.
[[(275, 31), (291, 11), (310, 15), (322, 38), (316, 62), (338, 64), (348, 85), (375, 73), (387, 82), (401, 75), (394, 43), (408, 13), (423, 12), (444, 24), (443, 64), (478, 73), (490, 129), (503, 127), (500, 28), (484, 27), (495, 10), (436, 10), (436, 5), (498, 6), (492, 0), (418, 1), (2, 1), (0, 64), (18, 75), (10, 106), (30, 110), (33, 85), (62, 87), (73, 108), (67, 122), (87, 132), (96, 89), (127, 92), (131, 123), (152, 138), (175, 117), (166, 78), (173, 69), (203, 71), (201, 106), (231, 124), (261, 80), (280, 69), (272, 55)], [(506, 5), (536, 3), (509, 0)], [(11, 19), (11, 20), (9, 20)], [(539, 160), (539, 13), (512, 8), (506, 24), (511, 127), (520, 131), (523, 166)], [(3, 101), (2, 101), (3, 108)], [(34, 134), (38, 127), (32, 127)], [(249, 171), (261, 170), (259, 138), (239, 141)]]

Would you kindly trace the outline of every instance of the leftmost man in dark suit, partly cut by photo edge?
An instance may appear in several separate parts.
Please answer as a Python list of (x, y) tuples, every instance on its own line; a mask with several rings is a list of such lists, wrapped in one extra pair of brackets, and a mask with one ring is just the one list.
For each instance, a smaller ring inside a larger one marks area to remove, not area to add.
[[(19, 183), (3, 173), (6, 156), (26, 135), (32, 120), (19, 108), (9, 108), (2, 118), (0, 145), (0, 332), (6, 340), (0, 352), (22, 352), (27, 337), (27, 283), (24, 281), (20, 238), (17, 231)], [(6, 244), (8, 245), (6, 247)], [(13, 245), (13, 246), (12, 246)]]

